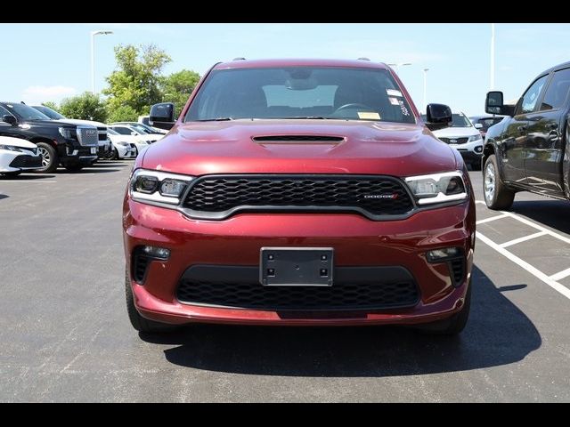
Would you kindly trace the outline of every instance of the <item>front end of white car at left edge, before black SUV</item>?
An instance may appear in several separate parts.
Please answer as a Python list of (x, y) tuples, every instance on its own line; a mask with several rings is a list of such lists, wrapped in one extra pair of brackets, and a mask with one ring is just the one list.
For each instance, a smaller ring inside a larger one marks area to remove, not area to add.
[(15, 176), (41, 167), (42, 155), (36, 144), (20, 138), (0, 136), (0, 175)]

